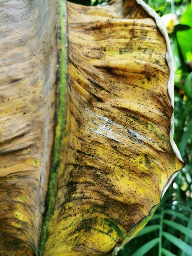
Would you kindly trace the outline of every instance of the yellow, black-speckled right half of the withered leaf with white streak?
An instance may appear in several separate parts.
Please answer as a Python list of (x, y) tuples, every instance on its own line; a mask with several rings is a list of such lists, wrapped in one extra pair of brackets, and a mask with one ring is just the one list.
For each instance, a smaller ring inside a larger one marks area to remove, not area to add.
[(182, 167), (169, 43), (149, 11), (133, 0), (68, 3), (68, 117), (47, 256), (119, 250)]

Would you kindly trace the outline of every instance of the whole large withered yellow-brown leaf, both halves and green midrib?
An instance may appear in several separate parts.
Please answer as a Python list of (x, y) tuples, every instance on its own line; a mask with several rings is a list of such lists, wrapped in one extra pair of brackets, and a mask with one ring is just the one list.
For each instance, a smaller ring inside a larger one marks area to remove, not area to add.
[(0, 255), (115, 255), (183, 166), (165, 29), (141, 0), (12, 2), (14, 23), (1, 6)]

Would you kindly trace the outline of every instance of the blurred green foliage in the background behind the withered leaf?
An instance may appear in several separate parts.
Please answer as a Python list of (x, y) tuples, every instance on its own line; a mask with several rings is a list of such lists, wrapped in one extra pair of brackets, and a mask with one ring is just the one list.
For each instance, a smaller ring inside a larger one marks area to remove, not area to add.
[[(73, 0), (102, 5), (105, 0)], [(148, 224), (118, 256), (192, 256), (192, 2), (145, 0), (163, 20), (175, 61), (174, 140), (186, 167), (175, 177)]]

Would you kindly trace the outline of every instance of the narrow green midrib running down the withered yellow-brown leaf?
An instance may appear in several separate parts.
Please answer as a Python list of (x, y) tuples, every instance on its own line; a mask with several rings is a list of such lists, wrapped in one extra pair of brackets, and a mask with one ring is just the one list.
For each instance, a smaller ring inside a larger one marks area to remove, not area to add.
[(66, 117), (66, 89), (67, 89), (67, 4), (65, 0), (58, 0), (58, 27), (59, 27), (59, 81), (57, 89), (55, 141), (50, 169), (49, 188), (47, 192), (47, 208), (41, 231), (39, 244), (39, 256), (44, 254), (45, 244), (49, 231), (49, 221), (53, 213), (53, 203), (57, 189), (58, 169), (60, 165), (60, 153), (62, 150), (62, 138), (64, 135)]

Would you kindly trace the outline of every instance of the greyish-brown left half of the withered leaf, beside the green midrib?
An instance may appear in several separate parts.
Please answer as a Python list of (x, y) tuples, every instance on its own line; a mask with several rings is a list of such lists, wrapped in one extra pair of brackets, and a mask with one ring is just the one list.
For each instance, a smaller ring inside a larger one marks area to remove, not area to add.
[(54, 1), (0, 1), (0, 256), (38, 254), (54, 140), (56, 13)]

